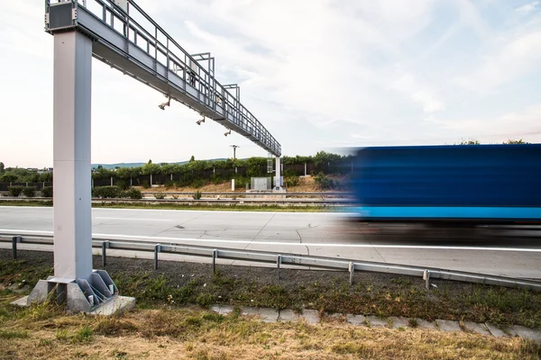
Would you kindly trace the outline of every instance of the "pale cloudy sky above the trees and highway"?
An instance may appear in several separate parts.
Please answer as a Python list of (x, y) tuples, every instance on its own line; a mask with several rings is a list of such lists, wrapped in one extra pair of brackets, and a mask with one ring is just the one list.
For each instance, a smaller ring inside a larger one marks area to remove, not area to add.
[[(92, 2), (94, 0), (87, 0)], [(139, 0), (282, 155), (465, 139), (541, 142), (541, 0)], [(43, 2), (0, 13), (0, 161), (52, 166), (53, 37)], [(92, 163), (266, 157), (93, 59)]]

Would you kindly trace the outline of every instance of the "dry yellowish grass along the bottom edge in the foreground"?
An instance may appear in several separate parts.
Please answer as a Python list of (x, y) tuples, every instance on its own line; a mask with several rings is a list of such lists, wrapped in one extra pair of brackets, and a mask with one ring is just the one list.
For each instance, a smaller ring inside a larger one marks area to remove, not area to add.
[[(489, 338), (425, 329), (263, 323), (197, 309), (131, 311), (123, 317), (59, 315), (14, 320), (0, 358), (37, 359), (538, 359), (541, 347), (520, 338)], [(28, 336), (26, 336), (28, 335)]]

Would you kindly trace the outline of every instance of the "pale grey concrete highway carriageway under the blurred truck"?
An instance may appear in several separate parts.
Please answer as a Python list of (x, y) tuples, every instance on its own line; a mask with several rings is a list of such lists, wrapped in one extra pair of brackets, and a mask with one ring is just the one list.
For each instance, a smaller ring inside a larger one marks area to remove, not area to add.
[[(0, 233), (53, 230), (53, 209), (0, 206)], [(541, 229), (423, 229), (349, 213), (93, 209), (94, 236), (268, 250), (541, 279)], [(7, 245), (7, 244), (5, 244)], [(114, 255), (113, 252), (110, 255)]]

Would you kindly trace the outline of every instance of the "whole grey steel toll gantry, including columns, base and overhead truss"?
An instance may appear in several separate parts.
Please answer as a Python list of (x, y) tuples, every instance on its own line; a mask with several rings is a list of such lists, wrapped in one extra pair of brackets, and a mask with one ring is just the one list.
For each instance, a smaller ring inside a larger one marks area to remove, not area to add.
[[(92, 57), (251, 139), (276, 157), (280, 144), (240, 102), (238, 85), (215, 80), (210, 53), (189, 55), (133, 0), (45, 0), (45, 31), (54, 35), (54, 276), (19, 304), (56, 289), (70, 311), (117, 299), (103, 270), (92, 269), (90, 124)], [(229, 90), (235, 90), (231, 94)]]

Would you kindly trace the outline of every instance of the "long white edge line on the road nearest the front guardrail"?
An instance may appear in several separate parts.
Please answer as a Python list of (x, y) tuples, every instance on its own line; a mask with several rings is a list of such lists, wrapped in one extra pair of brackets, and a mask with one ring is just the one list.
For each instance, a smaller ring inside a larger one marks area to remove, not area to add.
[[(53, 231), (40, 230), (20, 230), (20, 229), (0, 229), (0, 233), (9, 233), (13, 235), (19, 234), (53, 234)], [(139, 240), (167, 240), (167, 241), (192, 241), (204, 243), (231, 243), (231, 244), (250, 244), (250, 245), (283, 245), (289, 247), (365, 247), (365, 248), (404, 248), (404, 249), (423, 249), (423, 250), (466, 250), (466, 251), (516, 251), (526, 253), (541, 253), (541, 248), (524, 248), (524, 247), (443, 247), (443, 246), (423, 246), (423, 245), (370, 245), (370, 244), (335, 244), (335, 243), (291, 243), (283, 241), (257, 241), (257, 240), (225, 240), (211, 238), (170, 238), (170, 237), (148, 237), (139, 235), (122, 235), (122, 234), (92, 234), (92, 237), (104, 239), (139, 239)]]

